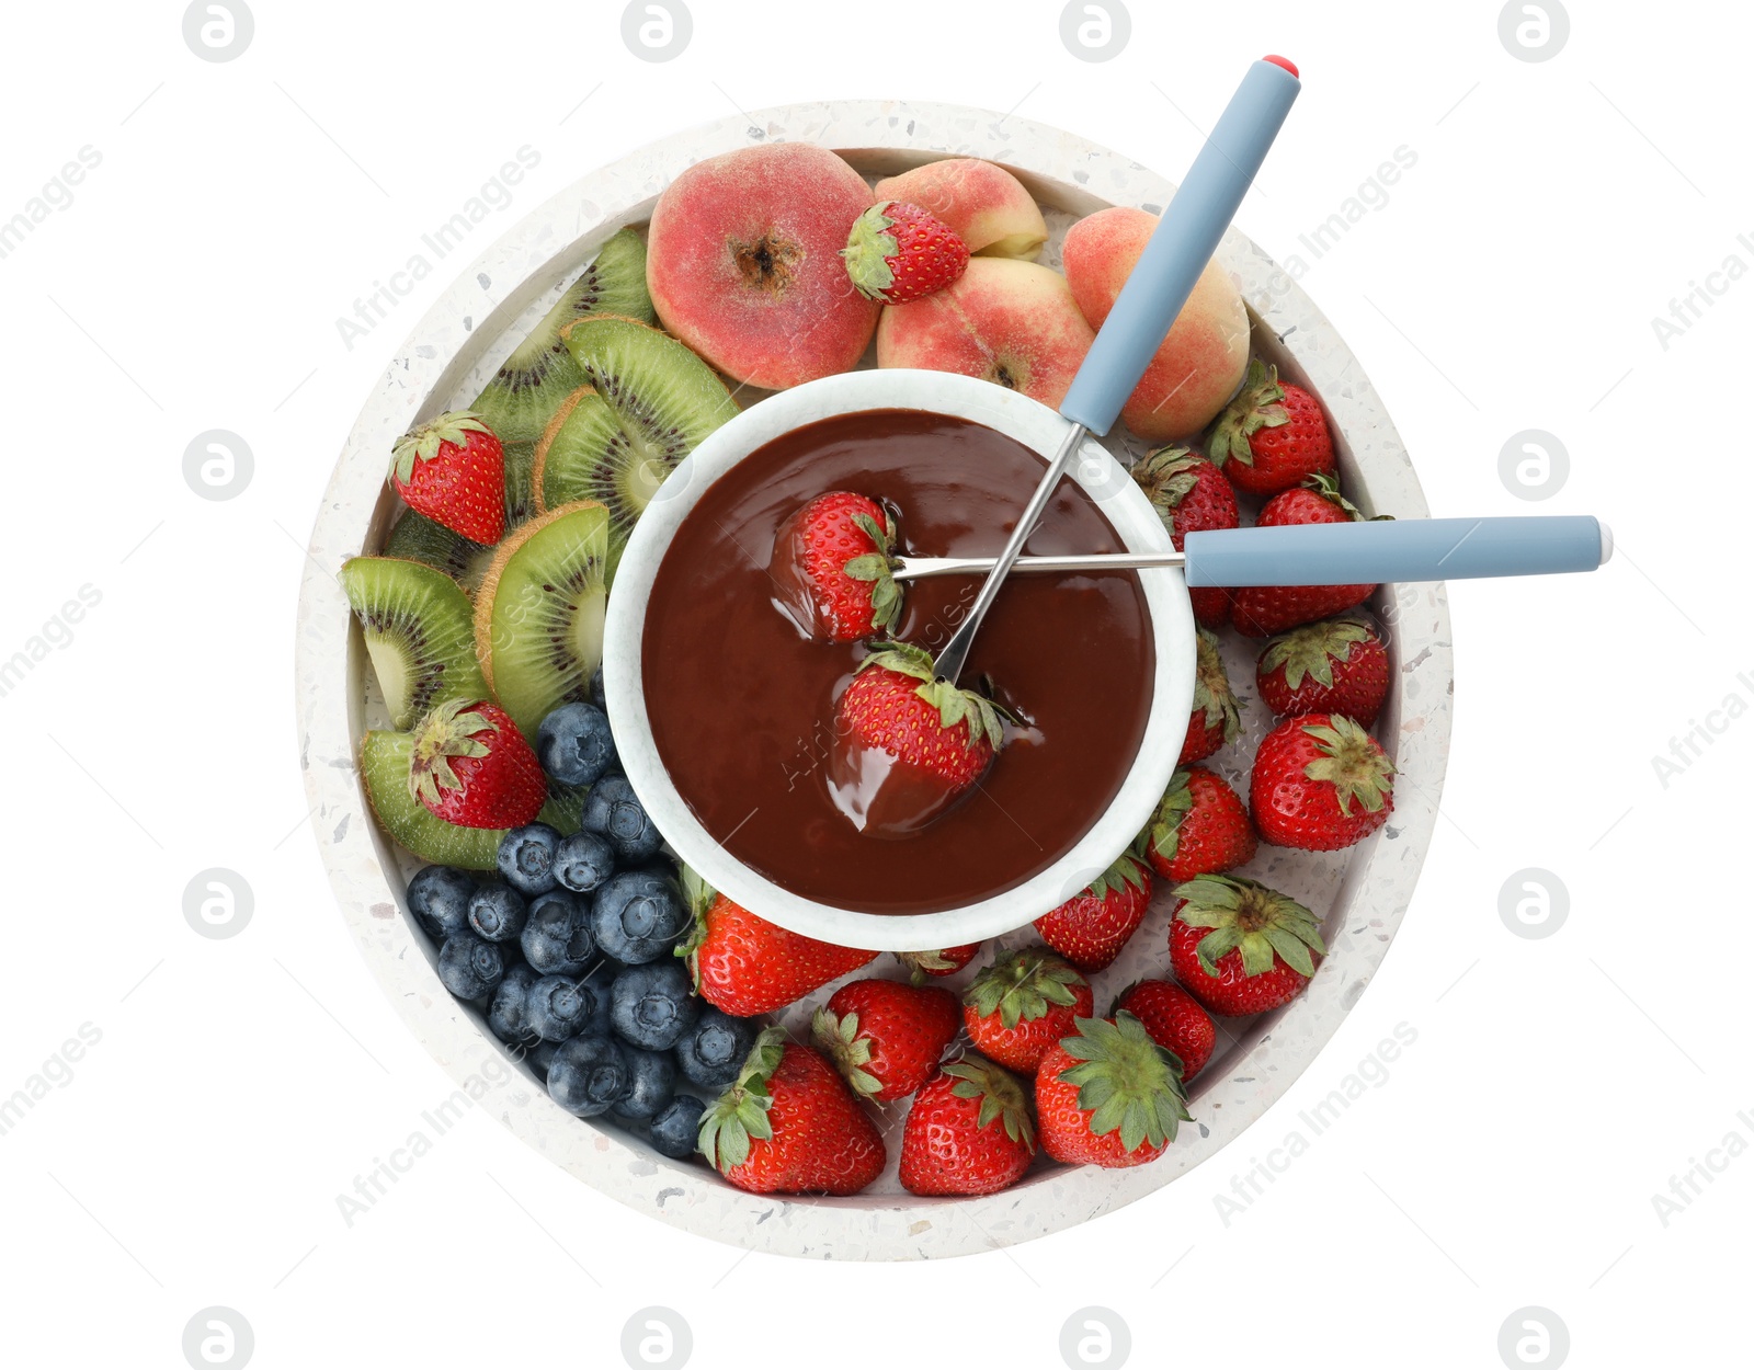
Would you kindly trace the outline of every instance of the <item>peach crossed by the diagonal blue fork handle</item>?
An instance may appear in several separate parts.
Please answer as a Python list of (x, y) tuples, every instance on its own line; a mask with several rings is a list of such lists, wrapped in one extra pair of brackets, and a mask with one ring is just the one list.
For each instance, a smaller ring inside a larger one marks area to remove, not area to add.
[[(1102, 328), (1109, 318), (1156, 226), (1154, 214), (1116, 205), (1066, 232), (1066, 281), (1091, 328)], [(1237, 393), (1247, 368), (1249, 310), (1212, 260), (1121, 410), (1121, 421), (1147, 442), (1198, 433)]]

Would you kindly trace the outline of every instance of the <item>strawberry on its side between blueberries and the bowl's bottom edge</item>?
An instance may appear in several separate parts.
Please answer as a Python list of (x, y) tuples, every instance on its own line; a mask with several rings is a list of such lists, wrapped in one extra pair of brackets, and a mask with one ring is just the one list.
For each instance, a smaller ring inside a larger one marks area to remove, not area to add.
[(691, 902), (695, 931), (675, 954), (688, 958), (700, 996), (733, 1017), (782, 1009), (877, 960), (875, 951), (788, 931), (710, 889)]

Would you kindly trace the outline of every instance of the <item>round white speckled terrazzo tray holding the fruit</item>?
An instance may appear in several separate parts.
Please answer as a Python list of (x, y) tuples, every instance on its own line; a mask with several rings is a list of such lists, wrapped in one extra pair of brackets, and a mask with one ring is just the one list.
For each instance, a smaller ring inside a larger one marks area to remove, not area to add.
[[(1172, 191), (1161, 175), (1117, 153), (1016, 116), (935, 103), (833, 102), (679, 133), (586, 175), (530, 214), (461, 274), (396, 349), (323, 498), (298, 603), (300, 763), (312, 826), (367, 965), (433, 1060), (458, 1084), (486, 1088), (481, 1107), (586, 1184), (702, 1237), (789, 1256), (914, 1259), (995, 1249), (1089, 1221), (1187, 1174), (1291, 1086), (1358, 1002), (1407, 910), (1437, 821), (1452, 691), (1444, 588), (1384, 586), (1373, 602), (1389, 628), (1394, 667), (1377, 728), (1400, 767), (1394, 817), (1347, 853), (1312, 856), (1263, 846), (1244, 868), (1323, 917), (1330, 956), (1294, 1003), (1259, 1019), (1219, 1023), (1217, 1052), (1191, 1091), (1196, 1121), (1184, 1124), (1156, 1163), (1096, 1170), (1038, 1158), (1021, 1184), (989, 1198), (914, 1198), (895, 1179), (905, 1105), (891, 1105), (881, 1117), (889, 1170), (875, 1186), (854, 1198), (786, 1200), (745, 1195), (703, 1163), (665, 1160), (631, 1133), (563, 1112), (526, 1067), (509, 1063), (477, 1014), (438, 984), (435, 949), (400, 914), (405, 879), (417, 863), (377, 831), (360, 788), (358, 740), (368, 726), (382, 726), (384, 716), (335, 572), (346, 558), (377, 551), (395, 517), (396, 503), (384, 486), (391, 442), (417, 421), (472, 400), (596, 247), (624, 225), (649, 218), (677, 172), (766, 140), (833, 147), (870, 177), (938, 156), (1002, 161), (1047, 210), (1052, 239), (1042, 261), (1056, 267), (1059, 240), (1075, 218), (1110, 203), (1158, 210)], [(1219, 260), (1249, 302), (1256, 351), (1314, 389), (1328, 409), (1351, 498), (1366, 514), (1424, 517), (1407, 453), (1328, 321), (1242, 233), (1226, 235)], [(1131, 440), (1110, 446), (1123, 460), (1142, 451)], [(1226, 640), (1226, 665), (1244, 696), (1245, 731), (1207, 765), (1245, 793), (1247, 761), (1270, 719), (1252, 698), (1252, 649), (1233, 639)], [(1159, 882), (1158, 902), (1123, 958), (1094, 977), (1098, 1010), (1131, 981), (1166, 974), (1166, 928), (1168, 898)], [(1002, 938), (1005, 945), (1030, 940), (1028, 928)], [(863, 974), (872, 972), (898, 968), (884, 958)], [(968, 974), (940, 984), (956, 988)], [(805, 1028), (831, 989), (793, 1005), (784, 1021)]]

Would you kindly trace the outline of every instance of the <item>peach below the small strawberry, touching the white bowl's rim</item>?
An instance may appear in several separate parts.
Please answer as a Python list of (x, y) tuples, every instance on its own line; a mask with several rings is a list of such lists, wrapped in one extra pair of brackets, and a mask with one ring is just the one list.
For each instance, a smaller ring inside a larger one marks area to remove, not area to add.
[(1058, 409), (1094, 340), (1059, 272), (975, 256), (952, 284), (882, 312), (877, 365), (977, 375)]

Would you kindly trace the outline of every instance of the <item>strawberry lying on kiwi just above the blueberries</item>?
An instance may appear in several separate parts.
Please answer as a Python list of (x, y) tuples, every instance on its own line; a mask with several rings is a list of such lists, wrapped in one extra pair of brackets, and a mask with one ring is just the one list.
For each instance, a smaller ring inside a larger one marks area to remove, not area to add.
[(451, 700), (414, 728), (409, 793), (460, 828), (523, 828), (547, 803), (547, 777), (500, 705)]

